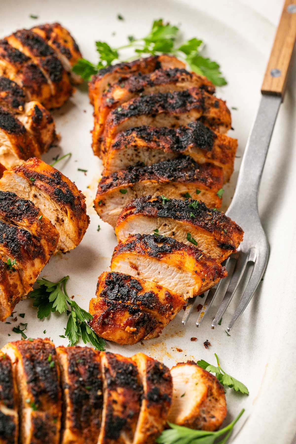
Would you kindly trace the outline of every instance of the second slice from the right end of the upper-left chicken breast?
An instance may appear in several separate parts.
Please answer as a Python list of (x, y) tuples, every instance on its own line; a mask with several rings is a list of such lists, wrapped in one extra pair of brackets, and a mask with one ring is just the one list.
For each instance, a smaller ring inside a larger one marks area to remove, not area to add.
[(28, 29), (20, 29), (6, 37), (8, 43), (30, 57), (40, 68), (51, 90), (51, 98), (43, 103), (47, 108), (58, 108), (71, 96), (71, 86), (67, 71), (46, 40)]

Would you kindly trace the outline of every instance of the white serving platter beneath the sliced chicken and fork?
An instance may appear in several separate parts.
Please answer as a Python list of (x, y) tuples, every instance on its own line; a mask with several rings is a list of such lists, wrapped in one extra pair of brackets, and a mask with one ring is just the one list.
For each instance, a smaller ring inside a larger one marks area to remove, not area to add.
[[(274, 36), (274, 27), (268, 21), (234, 0), (8, 0), (0, 3), (1, 37), (18, 28), (59, 21), (75, 36), (83, 56), (92, 61), (97, 60), (95, 40), (119, 46), (126, 42), (127, 35), (145, 35), (152, 20), (160, 17), (180, 24), (185, 39), (193, 36), (203, 39), (207, 54), (221, 63), (229, 82), (226, 87), (218, 88), (217, 96), (226, 99), (229, 107), (238, 108), (232, 111), (235, 129), (229, 135), (239, 140), (239, 158), (236, 159), (231, 182), (225, 186), (223, 209), (227, 208), (260, 99), (260, 84)], [(39, 19), (32, 20), (30, 14), (39, 16)], [(118, 14), (125, 20), (118, 21)], [(116, 34), (112, 35), (113, 32)], [(222, 367), (244, 382), (250, 392), (249, 396), (232, 390), (226, 394), (228, 415), (225, 424), (237, 416), (241, 408), (246, 409), (230, 440), (238, 444), (259, 444), (263, 441), (288, 444), (296, 432), (293, 322), (296, 312), (295, 85), (294, 69), (276, 123), (260, 188), (260, 216), (271, 246), (268, 268), (264, 281), (260, 283), (231, 336), (227, 336), (225, 329), (237, 306), (240, 292), (233, 298), (221, 326), (218, 325), (215, 330), (210, 328), (210, 321), (220, 301), (213, 304), (199, 329), (195, 327), (197, 312), (192, 315), (186, 328), (181, 324), (182, 312), (158, 339), (134, 346), (107, 344), (108, 350), (127, 356), (142, 351), (169, 366), (188, 359), (205, 359), (214, 364), (214, 353), (217, 353)], [(91, 150), (93, 121), (87, 88), (79, 88), (73, 98), (53, 114), (62, 139), (60, 146), (52, 148), (43, 159), (50, 163), (55, 155), (72, 152), (71, 159), (61, 161), (57, 166), (87, 196), (91, 224), (79, 247), (68, 254), (51, 258), (41, 275), (57, 281), (69, 274), (68, 293), (75, 295), (79, 305), (88, 309), (88, 302), (95, 295), (99, 274), (109, 269), (116, 238), (111, 227), (99, 220), (92, 207), (102, 168), (101, 161)], [(87, 174), (84, 175), (77, 168), (87, 169)], [(99, 232), (98, 224), (101, 227)], [(19, 318), (19, 321), (28, 322), (28, 337), (47, 336), (56, 345), (67, 345), (67, 340), (59, 337), (65, 326), (63, 315), (51, 315), (50, 320), (39, 321), (30, 300), (20, 302), (16, 311), (16, 315), (26, 313), (24, 320)], [(20, 339), (19, 335), (12, 333), (13, 326), (0, 325), (1, 347), (9, 340)], [(190, 341), (191, 337), (197, 337), (197, 341)], [(209, 349), (203, 346), (206, 339), (212, 344)], [(182, 349), (182, 352), (176, 348)]]

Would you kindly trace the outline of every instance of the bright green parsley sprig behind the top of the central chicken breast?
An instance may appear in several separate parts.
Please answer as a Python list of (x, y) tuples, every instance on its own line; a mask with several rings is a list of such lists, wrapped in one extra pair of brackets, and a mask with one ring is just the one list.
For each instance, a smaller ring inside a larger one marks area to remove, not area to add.
[(83, 79), (88, 80), (99, 69), (114, 62), (126, 61), (126, 58), (122, 58), (121, 51), (133, 48), (134, 56), (128, 60), (136, 59), (139, 56), (171, 54), (183, 59), (192, 71), (205, 75), (214, 85), (226, 85), (227, 82), (221, 74), (220, 65), (202, 56), (204, 42), (193, 37), (179, 45), (177, 44), (179, 37), (180, 29), (178, 26), (164, 23), (163, 19), (154, 20), (150, 32), (145, 37), (136, 39), (134, 36), (128, 36), (128, 43), (118, 48), (111, 48), (106, 42), (96, 41), (95, 46), (99, 53), (99, 62), (94, 64), (86, 59), (79, 59), (72, 69)]

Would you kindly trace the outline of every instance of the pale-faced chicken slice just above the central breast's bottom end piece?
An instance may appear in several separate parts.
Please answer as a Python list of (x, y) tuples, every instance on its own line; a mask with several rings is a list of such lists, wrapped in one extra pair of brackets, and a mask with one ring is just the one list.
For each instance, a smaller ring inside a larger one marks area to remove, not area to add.
[(227, 276), (225, 267), (196, 247), (150, 234), (136, 234), (119, 242), (110, 268), (157, 282), (185, 299), (204, 293)]

